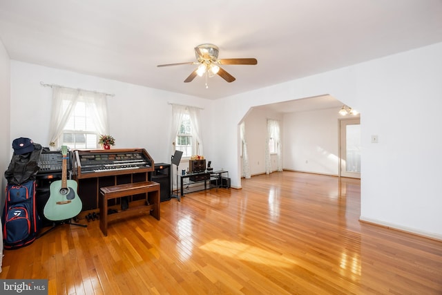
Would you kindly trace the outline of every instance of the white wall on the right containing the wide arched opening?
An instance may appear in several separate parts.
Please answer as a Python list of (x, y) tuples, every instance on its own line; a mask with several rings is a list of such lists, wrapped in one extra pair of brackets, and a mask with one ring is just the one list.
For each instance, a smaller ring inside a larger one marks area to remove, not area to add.
[(240, 187), (238, 123), (249, 108), (328, 93), (362, 114), (361, 219), (442, 239), (441, 81), (439, 43), (226, 97), (213, 102), (229, 143), (217, 155)]

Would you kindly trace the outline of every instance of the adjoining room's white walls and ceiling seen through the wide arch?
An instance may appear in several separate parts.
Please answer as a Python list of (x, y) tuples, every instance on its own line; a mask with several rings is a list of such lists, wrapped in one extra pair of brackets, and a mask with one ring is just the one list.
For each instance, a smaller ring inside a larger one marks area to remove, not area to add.
[[(242, 117), (244, 141), (238, 124), (240, 175), (244, 177), (244, 144), (250, 175), (265, 173), (267, 120), (278, 120), (281, 129), (282, 168), (289, 171), (339, 174), (338, 113), (343, 102), (331, 95), (305, 97), (287, 102), (253, 106)], [(354, 117), (354, 116), (352, 116)], [(271, 168), (276, 171), (276, 155)]]

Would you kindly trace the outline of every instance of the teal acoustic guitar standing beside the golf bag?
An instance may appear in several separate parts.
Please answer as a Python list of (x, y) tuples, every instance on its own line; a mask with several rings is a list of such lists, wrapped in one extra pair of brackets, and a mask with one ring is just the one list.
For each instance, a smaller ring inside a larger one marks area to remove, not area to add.
[(52, 221), (74, 218), (83, 207), (83, 203), (77, 195), (77, 182), (68, 180), (67, 146), (61, 146), (61, 154), (63, 155), (61, 180), (56, 180), (50, 184), (49, 199), (43, 210), (44, 217)]

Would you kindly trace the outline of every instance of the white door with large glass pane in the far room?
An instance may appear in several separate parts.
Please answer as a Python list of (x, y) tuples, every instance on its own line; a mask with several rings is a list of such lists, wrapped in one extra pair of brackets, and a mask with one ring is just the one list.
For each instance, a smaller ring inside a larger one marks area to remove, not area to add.
[(339, 129), (340, 176), (361, 178), (361, 120), (341, 119)]

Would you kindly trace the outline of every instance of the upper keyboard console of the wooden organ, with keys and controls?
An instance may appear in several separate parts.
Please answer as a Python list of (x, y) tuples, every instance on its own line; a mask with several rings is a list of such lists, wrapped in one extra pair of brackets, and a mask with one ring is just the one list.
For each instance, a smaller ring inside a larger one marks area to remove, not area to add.
[(151, 172), (153, 159), (145, 149), (74, 151), (74, 178)]

